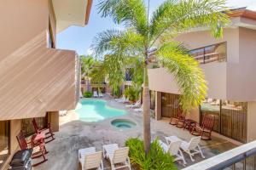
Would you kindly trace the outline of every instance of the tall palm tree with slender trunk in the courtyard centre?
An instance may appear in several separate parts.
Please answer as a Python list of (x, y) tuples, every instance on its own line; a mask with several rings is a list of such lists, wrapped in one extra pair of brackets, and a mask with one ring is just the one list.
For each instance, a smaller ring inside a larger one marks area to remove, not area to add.
[[(149, 0), (148, 0), (149, 7)], [(207, 93), (207, 83), (198, 62), (189, 56), (179, 34), (193, 28), (207, 27), (214, 37), (221, 37), (229, 23), (225, 0), (166, 0), (149, 18), (149, 8), (143, 0), (100, 0), (99, 13), (122, 24), (125, 30), (99, 33), (93, 43), (97, 56), (104, 56), (108, 78), (122, 82), (127, 59), (143, 60), (143, 139), (144, 150), (150, 148), (150, 115), (148, 90), (148, 56), (150, 49), (160, 63), (172, 73), (181, 95), (184, 110), (201, 104)], [(114, 76), (115, 75), (115, 76)], [(119, 76), (116, 76), (119, 75)]]

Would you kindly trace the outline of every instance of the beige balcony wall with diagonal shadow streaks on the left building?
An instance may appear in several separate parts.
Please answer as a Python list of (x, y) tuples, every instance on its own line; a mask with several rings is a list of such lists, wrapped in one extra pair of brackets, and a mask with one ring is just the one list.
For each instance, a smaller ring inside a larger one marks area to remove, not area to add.
[(45, 48), (44, 37), (34, 37), (1, 60), (0, 120), (75, 108), (79, 58), (74, 51)]

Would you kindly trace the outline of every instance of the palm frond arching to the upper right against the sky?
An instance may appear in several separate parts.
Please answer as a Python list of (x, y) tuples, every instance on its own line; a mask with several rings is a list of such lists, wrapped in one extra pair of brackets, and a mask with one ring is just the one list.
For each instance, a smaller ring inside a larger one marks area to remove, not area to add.
[[(209, 27), (214, 37), (221, 37), (229, 23), (225, 0), (167, 0), (154, 11), (150, 35), (156, 41), (165, 36), (176, 36), (195, 27)], [(225, 11), (225, 13), (224, 13)]]

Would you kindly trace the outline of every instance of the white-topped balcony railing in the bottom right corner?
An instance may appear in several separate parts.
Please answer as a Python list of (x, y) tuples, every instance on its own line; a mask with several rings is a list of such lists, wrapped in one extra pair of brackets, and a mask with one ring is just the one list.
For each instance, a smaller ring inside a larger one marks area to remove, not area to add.
[(228, 170), (256, 169), (256, 140), (243, 144), (233, 150), (226, 151), (218, 156), (213, 156), (205, 161), (196, 163), (183, 170)]

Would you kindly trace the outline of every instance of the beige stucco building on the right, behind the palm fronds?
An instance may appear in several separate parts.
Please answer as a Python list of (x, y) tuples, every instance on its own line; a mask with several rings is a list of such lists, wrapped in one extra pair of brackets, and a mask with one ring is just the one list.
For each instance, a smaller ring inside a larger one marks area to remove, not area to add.
[[(207, 99), (187, 116), (201, 122), (205, 114), (215, 116), (214, 131), (246, 143), (256, 139), (256, 12), (244, 8), (230, 14), (232, 23), (224, 37), (215, 39), (207, 29), (177, 37), (201, 63)], [(156, 119), (175, 116), (179, 89), (165, 68), (149, 69), (149, 88), (154, 91)]]

